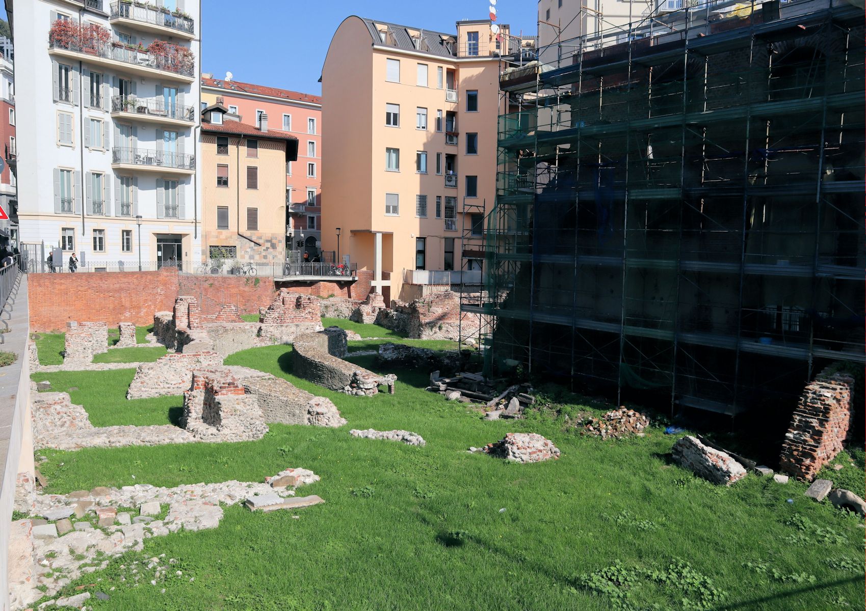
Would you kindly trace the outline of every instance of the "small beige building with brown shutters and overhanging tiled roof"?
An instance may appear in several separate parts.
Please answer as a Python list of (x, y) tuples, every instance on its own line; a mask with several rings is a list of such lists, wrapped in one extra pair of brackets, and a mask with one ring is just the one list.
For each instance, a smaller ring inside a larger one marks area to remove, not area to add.
[(297, 138), (215, 104), (202, 113), (201, 151), (204, 259), (282, 264), (286, 164), (297, 159)]

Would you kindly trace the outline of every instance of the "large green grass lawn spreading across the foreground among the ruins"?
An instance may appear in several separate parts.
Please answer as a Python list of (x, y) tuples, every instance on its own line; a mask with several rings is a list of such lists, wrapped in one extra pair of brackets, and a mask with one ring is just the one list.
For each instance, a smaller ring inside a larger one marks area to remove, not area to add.
[[(262, 481), (302, 466), (322, 480), (299, 493), (318, 494), (326, 504), (295, 511), (299, 519), (290, 511), (235, 506), (215, 530), (146, 539), (146, 556), (178, 558), (184, 571), (183, 579), (162, 584), (165, 594), (120, 582), (120, 563), (128, 562), (120, 558), (82, 576), (64, 595), (101, 578), (98, 589), (117, 589), (111, 601), (91, 598), (88, 608), (864, 607), (863, 521), (805, 498), (803, 484), (750, 475), (730, 488), (710, 485), (671, 464), (676, 436), (658, 428), (623, 441), (573, 434), (565, 414), (585, 409), (573, 396), (559, 399), (560, 412), (481, 421), (466, 405), (425, 392), (426, 370), (397, 370), (396, 395), (355, 397), (294, 377), (290, 357), (290, 348), (268, 346), (226, 363), (269, 371), (331, 398), (346, 427), (271, 425), (260, 441), (42, 451), (48, 460), (40, 469), (47, 492), (71, 492)], [(373, 357), (352, 360), (376, 370)], [(74, 401), (120, 421), (132, 372), (98, 376), (87, 394), (83, 374), (36, 375), (56, 380), (58, 389), (80, 386)], [(165, 418), (156, 401), (142, 401), (152, 406), (148, 413)], [(133, 420), (126, 423), (139, 423)], [(404, 428), (428, 445), (356, 439), (349, 428)], [(466, 452), (509, 431), (543, 434), (562, 456), (514, 465)], [(625, 601), (631, 606), (619, 604)]]

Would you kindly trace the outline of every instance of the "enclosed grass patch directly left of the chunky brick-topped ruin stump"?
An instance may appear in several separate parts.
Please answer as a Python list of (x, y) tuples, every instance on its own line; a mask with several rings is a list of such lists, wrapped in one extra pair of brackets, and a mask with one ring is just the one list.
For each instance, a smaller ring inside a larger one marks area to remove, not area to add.
[(94, 427), (177, 424), (183, 411), (184, 398), (161, 396), (129, 401), (126, 399), (126, 389), (134, 375), (134, 369), (55, 373), (37, 371), (30, 375), (30, 379), (34, 382), (48, 380), (51, 391), (68, 392), (74, 404), (84, 406)]

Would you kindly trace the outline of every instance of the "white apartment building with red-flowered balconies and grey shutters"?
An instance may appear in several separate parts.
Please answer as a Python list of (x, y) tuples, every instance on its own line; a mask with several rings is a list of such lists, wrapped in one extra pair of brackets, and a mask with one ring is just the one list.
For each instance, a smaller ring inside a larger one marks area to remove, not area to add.
[(200, 261), (199, 3), (6, 7), (20, 241), (88, 267)]

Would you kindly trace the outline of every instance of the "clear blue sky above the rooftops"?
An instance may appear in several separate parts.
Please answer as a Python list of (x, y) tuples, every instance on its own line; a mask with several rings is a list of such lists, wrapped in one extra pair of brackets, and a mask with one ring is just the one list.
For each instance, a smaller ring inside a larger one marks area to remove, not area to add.
[[(346, 16), (455, 32), (457, 20), (484, 19), (488, 7), (488, 0), (202, 0), (202, 71), (319, 94), (328, 44)], [(514, 34), (535, 33), (536, 0), (499, 0), (496, 8)]]

